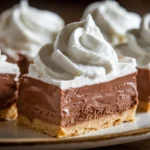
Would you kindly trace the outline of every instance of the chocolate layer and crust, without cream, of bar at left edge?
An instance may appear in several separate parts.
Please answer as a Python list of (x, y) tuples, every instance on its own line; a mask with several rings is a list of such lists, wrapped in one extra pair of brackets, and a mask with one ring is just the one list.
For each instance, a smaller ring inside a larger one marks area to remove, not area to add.
[(17, 84), (14, 81), (16, 75), (0, 74), (0, 119), (15, 119), (17, 117), (16, 98)]

